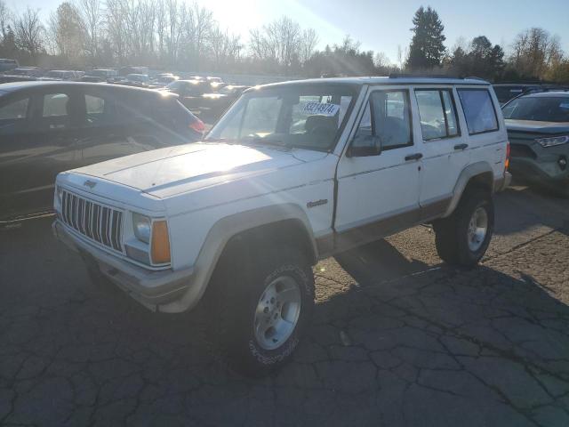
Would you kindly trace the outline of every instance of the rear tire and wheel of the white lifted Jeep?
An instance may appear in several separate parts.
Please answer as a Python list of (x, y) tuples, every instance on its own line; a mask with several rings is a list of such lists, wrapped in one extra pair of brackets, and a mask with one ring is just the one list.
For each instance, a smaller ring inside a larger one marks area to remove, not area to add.
[[(477, 227), (471, 228), (474, 222)], [(437, 253), (444, 262), (474, 267), (484, 256), (493, 235), (494, 205), (491, 194), (485, 189), (468, 189), (453, 214), (435, 222), (433, 229)]]

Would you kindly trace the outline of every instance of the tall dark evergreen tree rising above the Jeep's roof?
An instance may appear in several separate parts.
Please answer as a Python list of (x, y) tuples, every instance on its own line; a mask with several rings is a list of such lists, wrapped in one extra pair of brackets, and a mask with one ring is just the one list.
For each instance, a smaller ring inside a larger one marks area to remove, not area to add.
[(407, 68), (413, 70), (439, 66), (445, 53), (445, 26), (438, 18), (438, 13), (430, 6), (426, 10), (421, 6), (415, 12), (411, 30), (413, 39), (409, 46)]

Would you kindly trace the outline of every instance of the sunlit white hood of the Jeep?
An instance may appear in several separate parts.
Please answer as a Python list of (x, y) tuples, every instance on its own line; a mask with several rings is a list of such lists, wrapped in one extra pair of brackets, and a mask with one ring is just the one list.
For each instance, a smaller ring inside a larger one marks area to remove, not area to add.
[(317, 151), (294, 151), (196, 142), (120, 157), (73, 172), (164, 198), (259, 176), (326, 156), (326, 153)]

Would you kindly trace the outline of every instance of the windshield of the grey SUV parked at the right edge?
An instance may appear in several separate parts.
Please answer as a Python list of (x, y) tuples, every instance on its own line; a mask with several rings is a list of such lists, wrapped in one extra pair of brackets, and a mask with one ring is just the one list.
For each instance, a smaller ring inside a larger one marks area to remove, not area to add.
[(530, 96), (509, 102), (504, 118), (539, 122), (569, 122), (569, 96)]

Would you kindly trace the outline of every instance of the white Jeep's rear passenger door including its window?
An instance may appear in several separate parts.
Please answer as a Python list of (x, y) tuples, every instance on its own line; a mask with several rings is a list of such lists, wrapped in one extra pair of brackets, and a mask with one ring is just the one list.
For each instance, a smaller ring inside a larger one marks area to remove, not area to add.
[(422, 136), (421, 220), (445, 212), (461, 171), (469, 164), (452, 86), (415, 88)]

